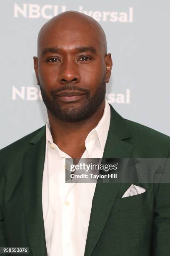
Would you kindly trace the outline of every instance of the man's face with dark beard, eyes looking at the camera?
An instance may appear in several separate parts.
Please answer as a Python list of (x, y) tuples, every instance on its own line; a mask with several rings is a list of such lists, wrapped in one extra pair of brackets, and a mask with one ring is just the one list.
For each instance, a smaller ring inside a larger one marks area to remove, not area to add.
[(54, 118), (76, 122), (95, 113), (105, 99), (109, 57), (88, 26), (59, 24), (45, 33), (34, 64), (42, 99)]

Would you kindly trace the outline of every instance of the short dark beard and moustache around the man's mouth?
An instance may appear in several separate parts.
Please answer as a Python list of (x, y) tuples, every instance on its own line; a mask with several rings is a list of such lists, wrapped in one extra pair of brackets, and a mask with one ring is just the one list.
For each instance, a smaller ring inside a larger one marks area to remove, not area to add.
[[(85, 92), (85, 100), (83, 100), (82, 105), (80, 107), (68, 106), (62, 108), (62, 106), (58, 102), (58, 97), (56, 93), (65, 90), (76, 90)], [(45, 103), (47, 110), (50, 111), (54, 118), (66, 122), (79, 122), (90, 118), (100, 107), (103, 100), (105, 99), (106, 83), (105, 79), (103, 79), (100, 87), (97, 88), (96, 92), (92, 96), (90, 96), (90, 90), (80, 88), (75, 85), (67, 85), (65, 87), (61, 87), (57, 90), (51, 91), (50, 94), (52, 96), (52, 99), (46, 94), (45, 90), (42, 88), (41, 85), (40, 91), (42, 95), (42, 100)]]

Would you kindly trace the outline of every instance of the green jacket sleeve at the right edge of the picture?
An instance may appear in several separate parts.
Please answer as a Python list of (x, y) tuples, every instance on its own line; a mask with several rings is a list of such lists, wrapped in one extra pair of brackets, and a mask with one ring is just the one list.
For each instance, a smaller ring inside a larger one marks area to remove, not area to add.
[[(170, 155), (169, 155), (170, 157)], [(166, 182), (166, 183), (164, 183)], [(152, 256), (170, 255), (170, 159), (165, 163), (164, 172), (155, 197)]]

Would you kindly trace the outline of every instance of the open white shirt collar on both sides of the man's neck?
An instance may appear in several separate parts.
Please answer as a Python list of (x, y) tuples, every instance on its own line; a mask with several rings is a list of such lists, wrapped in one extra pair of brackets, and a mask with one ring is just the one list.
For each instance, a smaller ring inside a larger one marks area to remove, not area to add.
[[(96, 132), (97, 137), (100, 141), (100, 146), (101, 146), (102, 150), (104, 150), (104, 148), (105, 148), (107, 134), (109, 131), (109, 125), (110, 125), (110, 106), (109, 106), (109, 103), (107, 102), (107, 100), (105, 100), (105, 108), (104, 108), (102, 118), (100, 119), (97, 126), (95, 128), (93, 128), (92, 131), (90, 131), (90, 133), (87, 135), (87, 138), (89, 138), (90, 134)], [(85, 141), (87, 141), (87, 138)], [(52, 135), (50, 132), (50, 123), (49, 123), (48, 118), (47, 118), (47, 123), (46, 123), (46, 141), (50, 141), (50, 143), (53, 143)]]

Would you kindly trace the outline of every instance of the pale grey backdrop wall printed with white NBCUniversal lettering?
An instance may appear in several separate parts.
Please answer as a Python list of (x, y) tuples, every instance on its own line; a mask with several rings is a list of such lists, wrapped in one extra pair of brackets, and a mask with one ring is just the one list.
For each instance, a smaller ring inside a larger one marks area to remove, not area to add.
[(41, 26), (66, 10), (90, 15), (106, 33), (113, 59), (110, 104), (123, 117), (170, 136), (168, 0), (10, 0), (0, 9), (0, 148), (46, 123), (33, 56)]

